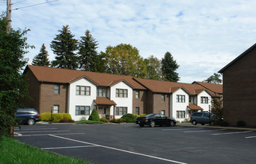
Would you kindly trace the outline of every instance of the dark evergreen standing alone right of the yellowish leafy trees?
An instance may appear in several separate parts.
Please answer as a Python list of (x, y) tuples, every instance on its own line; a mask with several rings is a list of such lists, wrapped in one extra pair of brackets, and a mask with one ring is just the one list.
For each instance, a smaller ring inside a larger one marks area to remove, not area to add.
[(167, 81), (177, 82), (180, 77), (176, 70), (179, 68), (176, 60), (172, 57), (170, 52), (165, 53), (165, 57), (162, 58), (162, 75)]

